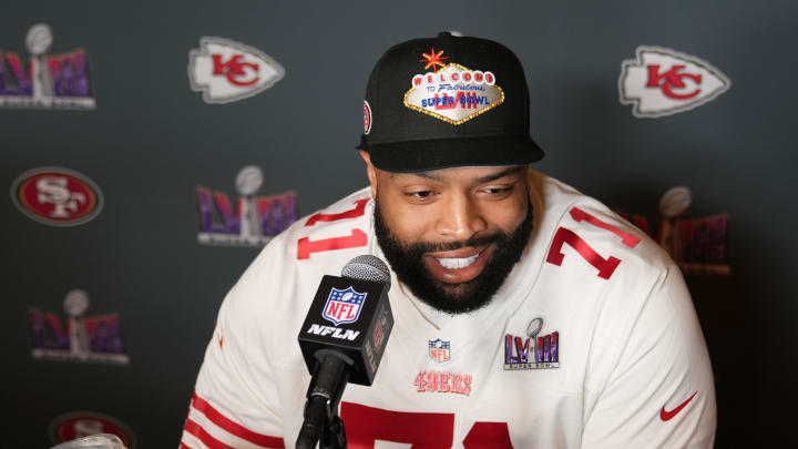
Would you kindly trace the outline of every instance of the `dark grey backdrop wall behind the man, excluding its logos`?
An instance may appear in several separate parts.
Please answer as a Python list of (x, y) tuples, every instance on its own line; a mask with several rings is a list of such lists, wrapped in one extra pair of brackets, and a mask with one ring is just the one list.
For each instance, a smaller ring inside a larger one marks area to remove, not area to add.
[[(0, 109), (0, 186), (63, 166), (95, 181), (105, 206), (88, 224), (53, 227), (0, 200), (3, 447), (48, 447), (50, 422), (73, 410), (121, 419), (139, 447), (175, 447), (218, 305), (257, 254), (197, 244), (195, 187), (234, 197), (236, 174), (255, 164), (262, 192), (296, 191), (306, 215), (364, 186), (354, 145), (374, 62), (444, 29), (516, 52), (546, 151), (539, 170), (631, 212), (656, 216), (662, 193), (687, 185), (689, 216), (729, 214), (732, 276), (688, 277), (716, 373), (716, 446), (787, 441), (797, 14), (798, 3), (775, 0), (4, 4), (0, 50), (27, 59), (25, 33), (48, 23), (53, 53), (86, 50), (98, 108)], [(258, 48), (286, 75), (250, 99), (205, 104), (186, 75), (203, 35)], [(732, 89), (693, 111), (636, 119), (617, 79), (641, 44), (697, 55)], [(73, 288), (89, 293), (88, 315), (121, 314), (130, 365), (32, 358), (29, 308), (65, 319)]]

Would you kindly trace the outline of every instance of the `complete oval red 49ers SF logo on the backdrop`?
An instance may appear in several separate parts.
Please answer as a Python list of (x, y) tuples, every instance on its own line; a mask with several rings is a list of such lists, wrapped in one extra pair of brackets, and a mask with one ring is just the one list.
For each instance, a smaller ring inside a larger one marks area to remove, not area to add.
[(100, 214), (100, 187), (66, 169), (42, 167), (22, 173), (11, 184), (11, 198), (32, 220), (53, 226), (75, 226)]

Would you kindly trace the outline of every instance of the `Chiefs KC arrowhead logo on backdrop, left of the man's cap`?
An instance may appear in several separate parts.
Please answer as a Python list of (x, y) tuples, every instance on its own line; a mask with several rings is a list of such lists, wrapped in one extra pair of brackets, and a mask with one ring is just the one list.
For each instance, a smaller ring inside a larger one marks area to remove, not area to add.
[(188, 53), (188, 80), (206, 103), (253, 96), (285, 75), (277, 61), (258, 49), (222, 38), (202, 38)]

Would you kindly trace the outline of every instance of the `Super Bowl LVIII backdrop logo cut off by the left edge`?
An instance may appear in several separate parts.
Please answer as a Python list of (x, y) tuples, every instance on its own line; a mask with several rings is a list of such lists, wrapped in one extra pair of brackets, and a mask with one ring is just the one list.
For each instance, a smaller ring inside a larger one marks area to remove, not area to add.
[(86, 52), (49, 54), (52, 31), (34, 24), (25, 37), (30, 59), (0, 51), (0, 108), (94, 109)]

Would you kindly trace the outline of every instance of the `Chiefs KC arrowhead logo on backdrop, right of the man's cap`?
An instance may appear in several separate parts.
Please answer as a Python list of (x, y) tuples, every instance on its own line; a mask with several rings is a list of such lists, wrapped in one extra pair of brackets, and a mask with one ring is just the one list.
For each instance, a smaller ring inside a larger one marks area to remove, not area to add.
[(726, 92), (732, 82), (696, 57), (659, 47), (638, 47), (637, 59), (621, 64), (622, 104), (637, 118), (688, 111)]

